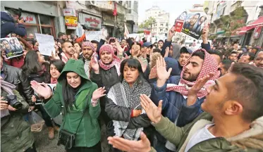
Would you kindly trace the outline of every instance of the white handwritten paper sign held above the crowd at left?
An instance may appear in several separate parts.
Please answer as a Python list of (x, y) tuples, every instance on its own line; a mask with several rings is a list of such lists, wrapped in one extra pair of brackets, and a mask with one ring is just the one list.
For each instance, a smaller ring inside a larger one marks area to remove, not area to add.
[(35, 33), (37, 42), (39, 43), (39, 52), (45, 56), (51, 56), (51, 52), (55, 54), (54, 37), (48, 34)]

